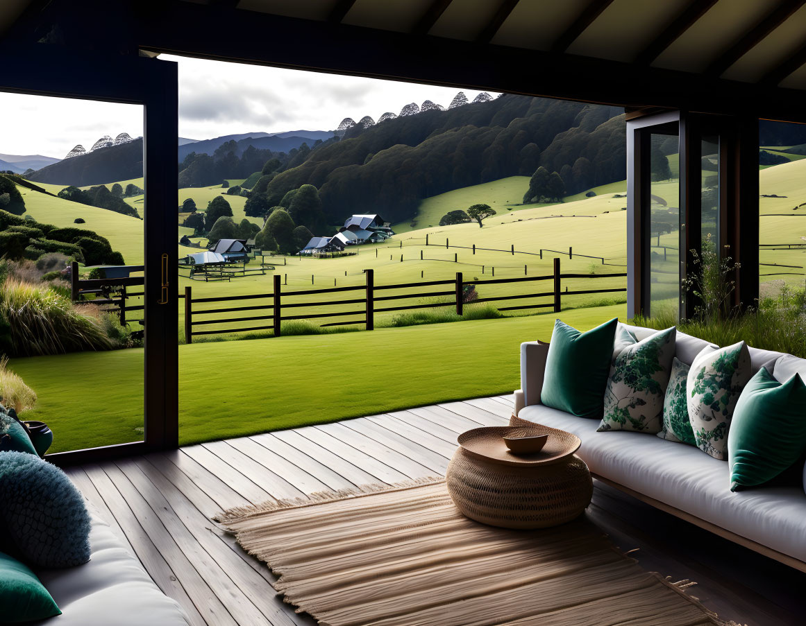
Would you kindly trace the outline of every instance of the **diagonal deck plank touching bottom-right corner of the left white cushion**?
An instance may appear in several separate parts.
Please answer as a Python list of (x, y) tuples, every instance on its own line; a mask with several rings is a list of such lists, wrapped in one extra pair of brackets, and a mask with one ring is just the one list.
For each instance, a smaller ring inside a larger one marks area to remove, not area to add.
[(156, 586), (160, 587), (165, 595), (180, 603), (193, 626), (206, 626), (206, 620), (198, 612), (196, 605), (185, 591), (185, 587), (182, 586), (160, 550), (148, 537), (148, 533), (140, 525), (135, 513), (129, 508), (118, 488), (115, 487), (109, 476), (106, 476), (106, 472), (96, 464), (85, 465), (84, 469), (118, 524), (125, 529), (126, 537), (135, 550), (135, 554)]

